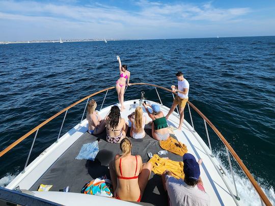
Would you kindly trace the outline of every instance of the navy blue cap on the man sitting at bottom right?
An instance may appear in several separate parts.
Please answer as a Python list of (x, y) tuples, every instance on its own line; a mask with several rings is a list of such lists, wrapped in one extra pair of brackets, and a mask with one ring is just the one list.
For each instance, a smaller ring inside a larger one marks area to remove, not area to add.
[(194, 180), (199, 180), (201, 175), (200, 165), (196, 158), (189, 153), (183, 155), (183, 172), (186, 178)]

